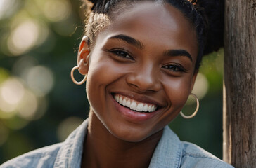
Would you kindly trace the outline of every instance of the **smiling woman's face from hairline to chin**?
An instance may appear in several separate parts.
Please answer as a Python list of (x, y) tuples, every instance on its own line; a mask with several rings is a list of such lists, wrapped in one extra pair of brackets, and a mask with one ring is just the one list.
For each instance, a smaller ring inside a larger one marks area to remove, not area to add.
[(87, 76), (93, 113), (118, 139), (162, 130), (190, 94), (198, 45), (176, 8), (153, 2), (120, 11), (96, 37)]

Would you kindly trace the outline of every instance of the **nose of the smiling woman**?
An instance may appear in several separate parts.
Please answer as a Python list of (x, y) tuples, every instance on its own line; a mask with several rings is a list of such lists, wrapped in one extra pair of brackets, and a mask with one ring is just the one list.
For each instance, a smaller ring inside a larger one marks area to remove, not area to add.
[(161, 88), (158, 73), (153, 69), (153, 66), (134, 69), (127, 76), (127, 83), (139, 92), (157, 92)]

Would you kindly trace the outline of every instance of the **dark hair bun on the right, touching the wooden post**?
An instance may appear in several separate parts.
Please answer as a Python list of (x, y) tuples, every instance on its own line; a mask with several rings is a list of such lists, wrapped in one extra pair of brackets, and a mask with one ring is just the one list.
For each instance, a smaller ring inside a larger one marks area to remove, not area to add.
[(204, 8), (207, 22), (207, 36), (204, 55), (217, 51), (224, 46), (224, 1), (223, 0), (197, 0), (196, 5)]

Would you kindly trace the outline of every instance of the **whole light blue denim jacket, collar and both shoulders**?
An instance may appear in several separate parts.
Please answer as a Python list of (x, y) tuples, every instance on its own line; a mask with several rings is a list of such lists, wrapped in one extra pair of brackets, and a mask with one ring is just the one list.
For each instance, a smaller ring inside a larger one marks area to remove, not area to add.
[[(88, 119), (77, 127), (63, 143), (25, 153), (5, 162), (0, 165), (0, 168), (79, 168), (81, 167), (83, 141), (85, 134), (87, 134), (87, 125)], [(177, 135), (166, 126), (155, 148), (149, 167), (231, 168), (232, 166), (194, 144), (180, 141)]]

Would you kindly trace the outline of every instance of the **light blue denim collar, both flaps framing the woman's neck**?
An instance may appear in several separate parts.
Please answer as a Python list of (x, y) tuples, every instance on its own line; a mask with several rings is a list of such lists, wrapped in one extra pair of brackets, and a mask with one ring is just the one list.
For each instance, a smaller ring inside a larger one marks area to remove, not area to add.
[[(79, 168), (81, 167), (84, 137), (87, 134), (89, 119), (70, 134), (58, 151), (55, 168)], [(181, 164), (181, 141), (172, 130), (166, 126), (162, 137), (155, 148), (149, 168), (179, 167)]]

